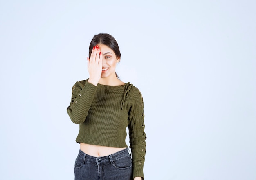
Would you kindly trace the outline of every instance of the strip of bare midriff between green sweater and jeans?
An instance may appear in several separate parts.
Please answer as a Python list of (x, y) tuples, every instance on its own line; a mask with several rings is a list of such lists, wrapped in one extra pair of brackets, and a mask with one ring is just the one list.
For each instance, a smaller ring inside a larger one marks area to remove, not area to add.
[(85, 154), (94, 157), (108, 156), (110, 154), (114, 154), (118, 151), (126, 149), (126, 147), (106, 147), (106, 146), (98, 146), (98, 145), (89, 145), (85, 143), (80, 143), (80, 149)]

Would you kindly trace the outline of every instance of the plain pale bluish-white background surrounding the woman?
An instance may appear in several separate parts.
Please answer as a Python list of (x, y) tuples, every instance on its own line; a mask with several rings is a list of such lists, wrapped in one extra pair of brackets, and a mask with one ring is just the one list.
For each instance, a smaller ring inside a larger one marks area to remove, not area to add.
[(0, 179), (71, 180), (93, 35), (144, 97), (146, 180), (256, 179), (254, 0), (0, 2)]

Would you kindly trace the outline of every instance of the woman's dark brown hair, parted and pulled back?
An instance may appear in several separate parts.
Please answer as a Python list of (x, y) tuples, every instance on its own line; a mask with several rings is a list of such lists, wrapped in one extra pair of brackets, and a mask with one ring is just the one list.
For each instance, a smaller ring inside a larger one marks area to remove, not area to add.
[[(104, 44), (108, 46), (110, 49), (114, 51), (116, 57), (121, 59), (121, 53), (120, 53), (117, 41), (112, 35), (105, 34), (105, 33), (99, 33), (97, 35), (94, 35), (94, 37), (92, 38), (92, 41), (89, 46), (89, 58), (91, 57), (91, 54), (92, 54), (92, 48), (97, 44)], [(117, 73), (116, 73), (116, 76), (119, 79)]]

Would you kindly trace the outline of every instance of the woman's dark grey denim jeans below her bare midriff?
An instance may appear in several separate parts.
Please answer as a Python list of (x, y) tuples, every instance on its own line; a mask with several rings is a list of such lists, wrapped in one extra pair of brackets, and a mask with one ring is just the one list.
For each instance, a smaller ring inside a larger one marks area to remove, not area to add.
[(103, 157), (79, 150), (74, 171), (75, 180), (132, 180), (132, 158), (127, 148)]

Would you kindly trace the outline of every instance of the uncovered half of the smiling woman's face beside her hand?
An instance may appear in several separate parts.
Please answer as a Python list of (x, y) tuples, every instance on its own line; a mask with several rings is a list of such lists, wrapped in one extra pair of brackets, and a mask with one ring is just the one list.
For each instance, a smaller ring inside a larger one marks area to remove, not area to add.
[(102, 55), (102, 71), (101, 77), (116, 77), (116, 66), (120, 61), (114, 51), (104, 44), (99, 44), (99, 49)]

